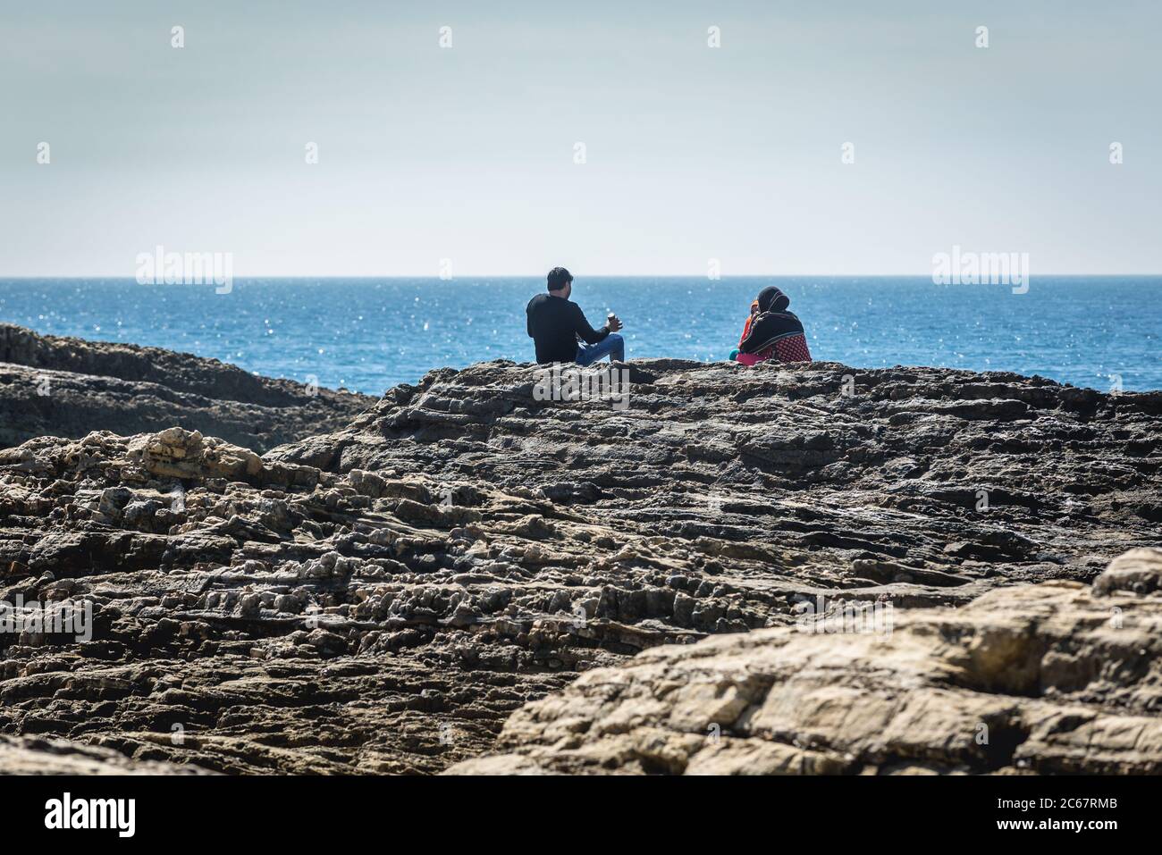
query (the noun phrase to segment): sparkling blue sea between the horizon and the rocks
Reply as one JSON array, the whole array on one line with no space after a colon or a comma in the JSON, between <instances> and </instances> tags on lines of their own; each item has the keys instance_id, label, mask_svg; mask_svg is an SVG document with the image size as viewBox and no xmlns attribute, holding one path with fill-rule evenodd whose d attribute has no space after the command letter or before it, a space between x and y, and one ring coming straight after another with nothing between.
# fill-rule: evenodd
<instances>
[{"instance_id":1,"label":"sparkling blue sea between the horizon and the rocks","mask_svg":"<svg viewBox=\"0 0 1162 855\"><path fill-rule=\"evenodd\" d=\"M1040 374L1109 390L1162 388L1162 276L1034 276L1002 285L928 278L579 278L595 326L625 322L626 355L725 359L751 300L791 297L816 359ZM213 285L0 279L0 319L58 336L131 342L270 376L381 394L438 366L530 361L524 307L541 278L250 279Z\"/></svg>"}]
</instances>

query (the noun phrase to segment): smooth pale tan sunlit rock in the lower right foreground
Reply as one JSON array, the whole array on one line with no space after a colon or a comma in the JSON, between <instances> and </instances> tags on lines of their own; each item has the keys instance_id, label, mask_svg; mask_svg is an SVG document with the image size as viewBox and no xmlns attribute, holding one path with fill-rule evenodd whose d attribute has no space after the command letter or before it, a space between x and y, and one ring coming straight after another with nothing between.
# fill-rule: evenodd
<instances>
[{"instance_id":1,"label":"smooth pale tan sunlit rock in the lower right foreground","mask_svg":"<svg viewBox=\"0 0 1162 855\"><path fill-rule=\"evenodd\" d=\"M1162 581L1162 551L1135 553ZM1003 588L890 632L658 647L519 710L511 753L451 771L1157 775L1162 596L1126 590L1125 561L1092 590Z\"/></svg>"}]
</instances>

